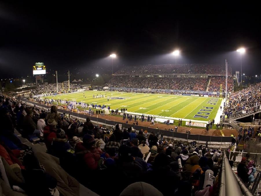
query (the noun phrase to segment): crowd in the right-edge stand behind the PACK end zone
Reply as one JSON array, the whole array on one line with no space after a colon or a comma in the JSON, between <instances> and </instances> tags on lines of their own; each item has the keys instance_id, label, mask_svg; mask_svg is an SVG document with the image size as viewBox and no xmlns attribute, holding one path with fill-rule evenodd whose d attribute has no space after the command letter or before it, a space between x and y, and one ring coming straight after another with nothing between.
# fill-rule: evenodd
<instances>
[{"instance_id":1,"label":"crowd in the right-edge stand behind the PACK end zone","mask_svg":"<svg viewBox=\"0 0 261 196\"><path fill-rule=\"evenodd\" d=\"M261 104L261 83L251 84L248 88L232 93L228 101L224 108L224 114L227 117L230 114L257 107Z\"/></svg>"}]
</instances>

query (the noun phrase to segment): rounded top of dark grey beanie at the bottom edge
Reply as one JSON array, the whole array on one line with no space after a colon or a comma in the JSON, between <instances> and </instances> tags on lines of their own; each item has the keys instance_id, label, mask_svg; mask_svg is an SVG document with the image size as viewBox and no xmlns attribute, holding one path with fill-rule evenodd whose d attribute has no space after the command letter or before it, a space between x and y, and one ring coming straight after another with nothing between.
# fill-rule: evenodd
<instances>
[{"instance_id":1,"label":"rounded top of dark grey beanie at the bottom edge","mask_svg":"<svg viewBox=\"0 0 261 196\"><path fill-rule=\"evenodd\" d=\"M120 196L163 196L163 194L146 182L135 182L127 186Z\"/></svg>"}]
</instances>

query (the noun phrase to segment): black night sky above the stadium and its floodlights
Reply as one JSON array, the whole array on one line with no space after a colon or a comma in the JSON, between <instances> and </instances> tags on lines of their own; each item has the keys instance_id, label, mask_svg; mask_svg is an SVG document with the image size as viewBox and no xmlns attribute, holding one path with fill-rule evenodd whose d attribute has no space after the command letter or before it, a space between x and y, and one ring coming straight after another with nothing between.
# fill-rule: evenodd
<instances>
[{"instance_id":1,"label":"black night sky above the stadium and its floodlights","mask_svg":"<svg viewBox=\"0 0 261 196\"><path fill-rule=\"evenodd\" d=\"M112 52L115 69L174 63L168 55L174 49L181 50L178 63L225 65L227 59L235 72L241 46L247 50L242 72L261 74L257 5L64 2L0 2L1 78L32 75L35 62L85 77L108 69Z\"/></svg>"}]
</instances>

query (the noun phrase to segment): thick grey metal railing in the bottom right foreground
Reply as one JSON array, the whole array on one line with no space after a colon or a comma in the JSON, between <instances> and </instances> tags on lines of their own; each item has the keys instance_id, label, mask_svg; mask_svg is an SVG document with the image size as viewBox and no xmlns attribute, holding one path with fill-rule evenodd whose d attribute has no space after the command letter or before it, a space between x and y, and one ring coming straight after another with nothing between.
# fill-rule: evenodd
<instances>
[{"instance_id":1,"label":"thick grey metal railing in the bottom right foreground","mask_svg":"<svg viewBox=\"0 0 261 196\"><path fill-rule=\"evenodd\" d=\"M219 196L247 195L253 196L241 179L232 170L228 158L224 152L221 172L221 186Z\"/></svg>"}]
</instances>

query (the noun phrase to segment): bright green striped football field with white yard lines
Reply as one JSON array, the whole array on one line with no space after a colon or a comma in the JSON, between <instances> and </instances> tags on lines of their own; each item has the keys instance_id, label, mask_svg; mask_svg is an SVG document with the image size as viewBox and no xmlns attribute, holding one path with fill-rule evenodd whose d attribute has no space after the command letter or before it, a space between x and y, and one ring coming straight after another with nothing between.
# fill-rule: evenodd
<instances>
[{"instance_id":1,"label":"bright green striped football field with white yard lines","mask_svg":"<svg viewBox=\"0 0 261 196\"><path fill-rule=\"evenodd\" d=\"M83 93L85 97L83 97ZM106 93L106 95L105 95ZM105 98L93 98L93 95L105 95ZM107 101L107 97L109 101ZM215 118L221 99L181 95L118 93L106 91L84 91L45 97L49 99L73 100L110 106L111 109L127 108L127 112L149 114L170 118L208 121ZM111 99L116 98L116 99ZM117 99L124 98L124 99Z\"/></svg>"}]
</instances>

